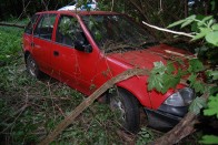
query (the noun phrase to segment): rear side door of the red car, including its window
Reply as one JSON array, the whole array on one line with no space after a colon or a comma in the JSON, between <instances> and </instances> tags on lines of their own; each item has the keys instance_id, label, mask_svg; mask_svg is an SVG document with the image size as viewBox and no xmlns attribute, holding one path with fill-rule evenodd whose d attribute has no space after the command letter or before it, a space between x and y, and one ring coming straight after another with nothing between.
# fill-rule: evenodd
<instances>
[{"instance_id":1,"label":"rear side door of the red car, including its window","mask_svg":"<svg viewBox=\"0 0 218 145\"><path fill-rule=\"evenodd\" d=\"M31 54L37 61L39 69L46 73L50 73L50 51L53 32L53 24L57 14L46 13L40 17L40 20L33 31L31 42Z\"/></svg>"}]
</instances>

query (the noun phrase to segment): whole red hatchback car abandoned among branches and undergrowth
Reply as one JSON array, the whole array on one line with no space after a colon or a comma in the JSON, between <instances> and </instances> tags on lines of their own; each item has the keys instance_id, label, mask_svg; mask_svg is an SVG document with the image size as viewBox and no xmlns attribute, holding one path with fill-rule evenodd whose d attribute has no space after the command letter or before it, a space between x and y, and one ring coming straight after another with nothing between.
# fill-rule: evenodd
<instances>
[{"instance_id":1,"label":"whole red hatchback car abandoned among branches and undergrowth","mask_svg":"<svg viewBox=\"0 0 218 145\"><path fill-rule=\"evenodd\" d=\"M36 13L24 30L23 51L32 76L43 72L86 95L128 69L152 69L153 62L187 54L158 44L127 15L102 11ZM181 84L165 94L149 92L147 79L133 76L103 95L119 112L123 127L133 133L139 130L140 106L151 127L168 130L184 117L194 100L194 91Z\"/></svg>"}]
</instances>

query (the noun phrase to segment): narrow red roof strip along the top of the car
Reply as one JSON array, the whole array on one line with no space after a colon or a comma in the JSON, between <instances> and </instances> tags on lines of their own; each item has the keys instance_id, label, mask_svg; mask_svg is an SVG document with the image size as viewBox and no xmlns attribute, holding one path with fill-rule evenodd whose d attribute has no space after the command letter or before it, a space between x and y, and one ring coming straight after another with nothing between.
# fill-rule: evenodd
<instances>
[{"instance_id":1,"label":"narrow red roof strip along the top of the car","mask_svg":"<svg viewBox=\"0 0 218 145\"><path fill-rule=\"evenodd\" d=\"M110 11L72 11L72 10L62 10L62 11L42 11L37 12L37 14L44 14L44 13L57 13L57 14L72 14L72 15L103 15L103 14L120 14L117 12L110 12Z\"/></svg>"}]
</instances>

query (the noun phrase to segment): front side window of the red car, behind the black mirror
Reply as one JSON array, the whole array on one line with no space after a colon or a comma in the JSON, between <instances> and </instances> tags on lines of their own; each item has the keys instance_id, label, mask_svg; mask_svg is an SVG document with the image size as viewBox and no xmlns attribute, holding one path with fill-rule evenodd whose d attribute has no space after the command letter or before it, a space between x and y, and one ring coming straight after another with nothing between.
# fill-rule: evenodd
<instances>
[{"instance_id":1,"label":"front side window of the red car, behind the black mirror","mask_svg":"<svg viewBox=\"0 0 218 145\"><path fill-rule=\"evenodd\" d=\"M75 41L88 44L87 38L76 18L61 15L56 32L56 42L73 46Z\"/></svg>"}]
</instances>

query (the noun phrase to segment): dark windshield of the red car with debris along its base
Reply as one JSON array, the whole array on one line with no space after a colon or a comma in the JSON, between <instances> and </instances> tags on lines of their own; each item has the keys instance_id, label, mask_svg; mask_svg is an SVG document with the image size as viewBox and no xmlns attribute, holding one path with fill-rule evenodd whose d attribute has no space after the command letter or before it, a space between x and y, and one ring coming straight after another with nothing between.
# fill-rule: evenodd
<instances>
[{"instance_id":1,"label":"dark windshield of the red car with debris along its base","mask_svg":"<svg viewBox=\"0 0 218 145\"><path fill-rule=\"evenodd\" d=\"M106 52L138 49L155 39L122 14L83 15L82 20L99 48Z\"/></svg>"}]
</instances>

